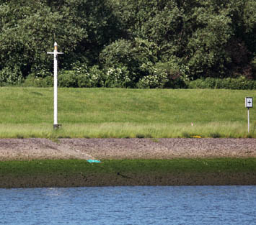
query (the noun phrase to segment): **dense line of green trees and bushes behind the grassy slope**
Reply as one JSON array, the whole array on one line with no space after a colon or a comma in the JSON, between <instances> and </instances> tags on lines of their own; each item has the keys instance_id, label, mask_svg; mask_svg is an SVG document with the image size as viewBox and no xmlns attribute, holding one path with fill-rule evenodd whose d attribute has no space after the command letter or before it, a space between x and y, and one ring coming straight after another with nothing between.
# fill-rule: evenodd
<instances>
[{"instance_id":1,"label":"dense line of green trees and bushes behind the grassy slope","mask_svg":"<svg viewBox=\"0 0 256 225\"><path fill-rule=\"evenodd\" d=\"M179 87L256 78L255 0L0 0L0 83Z\"/></svg>"}]
</instances>

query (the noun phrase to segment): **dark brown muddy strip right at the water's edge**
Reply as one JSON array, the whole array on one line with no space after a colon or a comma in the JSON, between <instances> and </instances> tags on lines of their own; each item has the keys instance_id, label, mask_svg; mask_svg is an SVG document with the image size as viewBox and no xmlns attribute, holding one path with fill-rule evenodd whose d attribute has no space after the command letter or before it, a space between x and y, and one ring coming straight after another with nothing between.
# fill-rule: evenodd
<instances>
[{"instance_id":1,"label":"dark brown muddy strip right at the water's edge","mask_svg":"<svg viewBox=\"0 0 256 225\"><path fill-rule=\"evenodd\" d=\"M2 176L0 188L94 187L134 185L256 185L256 173L165 173Z\"/></svg>"}]
</instances>

